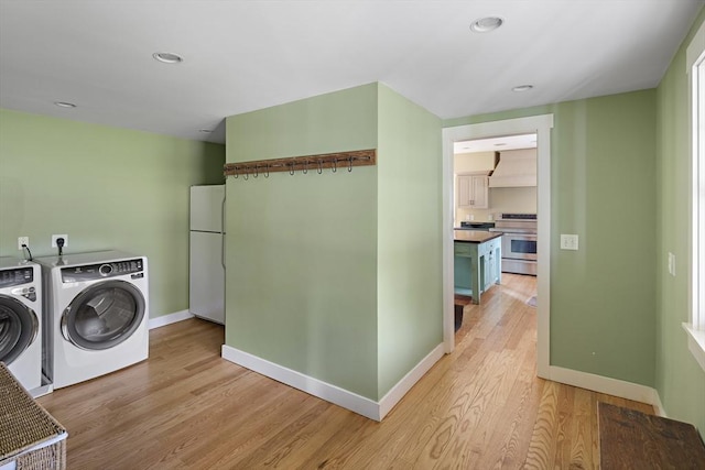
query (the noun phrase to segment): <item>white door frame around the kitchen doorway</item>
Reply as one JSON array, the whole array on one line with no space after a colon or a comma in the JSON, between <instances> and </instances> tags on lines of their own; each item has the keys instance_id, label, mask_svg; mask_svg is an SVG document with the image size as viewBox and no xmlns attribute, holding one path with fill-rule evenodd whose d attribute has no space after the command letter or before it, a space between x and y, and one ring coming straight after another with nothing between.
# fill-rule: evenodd
<instances>
[{"instance_id":1,"label":"white door frame around the kitchen doorway","mask_svg":"<svg viewBox=\"0 0 705 470\"><path fill-rule=\"evenodd\" d=\"M445 352L455 349L453 307L453 143L457 141L536 133L536 175L539 214L539 286L536 307L536 370L550 375L551 305L551 129L553 114L482 122L443 129L443 342Z\"/></svg>"}]
</instances>

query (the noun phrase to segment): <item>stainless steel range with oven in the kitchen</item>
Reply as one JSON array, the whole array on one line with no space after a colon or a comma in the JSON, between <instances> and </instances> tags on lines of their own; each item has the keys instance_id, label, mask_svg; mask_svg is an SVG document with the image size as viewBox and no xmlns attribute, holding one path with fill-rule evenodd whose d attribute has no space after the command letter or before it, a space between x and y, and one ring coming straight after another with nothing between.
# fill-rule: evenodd
<instances>
[{"instance_id":1,"label":"stainless steel range with oven in the kitchen","mask_svg":"<svg viewBox=\"0 0 705 470\"><path fill-rule=\"evenodd\" d=\"M502 272L536 275L535 214L496 214L495 232L502 232Z\"/></svg>"}]
</instances>

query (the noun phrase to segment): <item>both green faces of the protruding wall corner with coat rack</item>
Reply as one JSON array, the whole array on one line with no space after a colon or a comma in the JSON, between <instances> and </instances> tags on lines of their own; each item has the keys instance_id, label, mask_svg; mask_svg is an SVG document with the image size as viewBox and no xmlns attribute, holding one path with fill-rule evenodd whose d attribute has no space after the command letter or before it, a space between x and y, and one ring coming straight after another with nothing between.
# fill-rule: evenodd
<instances>
[{"instance_id":1,"label":"both green faces of the protruding wall corner with coat rack","mask_svg":"<svg viewBox=\"0 0 705 470\"><path fill-rule=\"evenodd\" d=\"M226 345L377 401L442 341L440 130L378 84L228 118L228 162L379 163L228 178Z\"/></svg>"}]
</instances>

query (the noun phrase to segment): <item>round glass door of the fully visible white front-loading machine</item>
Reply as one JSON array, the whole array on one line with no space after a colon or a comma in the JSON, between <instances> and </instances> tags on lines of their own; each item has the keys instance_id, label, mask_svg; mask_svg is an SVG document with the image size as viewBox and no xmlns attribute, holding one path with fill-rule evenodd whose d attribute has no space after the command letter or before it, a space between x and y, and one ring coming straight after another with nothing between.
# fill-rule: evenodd
<instances>
[{"instance_id":1,"label":"round glass door of the fully visible white front-loading machine","mask_svg":"<svg viewBox=\"0 0 705 470\"><path fill-rule=\"evenodd\" d=\"M140 289L124 281L106 281L72 300L62 316L62 334L82 349L109 349L130 338L143 318Z\"/></svg>"}]
</instances>

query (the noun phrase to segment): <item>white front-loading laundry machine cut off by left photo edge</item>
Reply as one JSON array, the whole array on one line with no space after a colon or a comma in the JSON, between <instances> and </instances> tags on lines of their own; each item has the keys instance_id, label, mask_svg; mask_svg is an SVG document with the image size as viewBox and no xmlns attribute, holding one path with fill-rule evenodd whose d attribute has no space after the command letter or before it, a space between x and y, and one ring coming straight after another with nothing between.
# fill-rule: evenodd
<instances>
[{"instance_id":1,"label":"white front-loading laundry machine cut off by left photo edge","mask_svg":"<svg viewBox=\"0 0 705 470\"><path fill-rule=\"evenodd\" d=\"M42 271L0 258L0 361L32 395L42 386Z\"/></svg>"}]
</instances>

